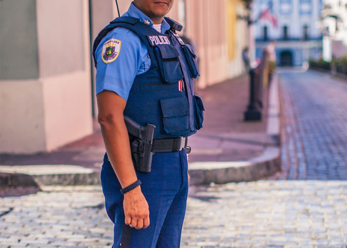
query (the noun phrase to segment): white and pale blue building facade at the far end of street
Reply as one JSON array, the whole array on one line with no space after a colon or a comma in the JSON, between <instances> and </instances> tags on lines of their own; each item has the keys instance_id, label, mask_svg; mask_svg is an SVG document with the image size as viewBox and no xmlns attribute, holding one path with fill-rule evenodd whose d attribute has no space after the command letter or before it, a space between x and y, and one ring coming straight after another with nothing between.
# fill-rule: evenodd
<instances>
[{"instance_id":1,"label":"white and pale blue building facade at the far end of street","mask_svg":"<svg viewBox=\"0 0 347 248\"><path fill-rule=\"evenodd\" d=\"M270 4L269 0L255 0L253 20ZM278 65L300 66L310 58L317 59L322 53L321 10L322 0L273 0L272 15L277 27L268 19L255 22L256 57L260 58L269 41L275 40Z\"/></svg>"}]
</instances>

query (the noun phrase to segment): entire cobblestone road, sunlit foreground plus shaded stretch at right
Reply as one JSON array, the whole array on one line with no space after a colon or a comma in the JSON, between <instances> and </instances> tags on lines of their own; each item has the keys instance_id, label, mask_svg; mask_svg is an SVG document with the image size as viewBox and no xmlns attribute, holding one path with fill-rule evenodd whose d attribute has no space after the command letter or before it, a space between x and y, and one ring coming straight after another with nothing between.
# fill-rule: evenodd
<instances>
[{"instance_id":1,"label":"entire cobblestone road, sunlit foreground plus shaded stretch at right","mask_svg":"<svg viewBox=\"0 0 347 248\"><path fill-rule=\"evenodd\" d=\"M281 78L285 180L191 188L182 248L347 248L347 83ZM0 199L1 248L110 247L99 186L43 190Z\"/></svg>"}]
</instances>

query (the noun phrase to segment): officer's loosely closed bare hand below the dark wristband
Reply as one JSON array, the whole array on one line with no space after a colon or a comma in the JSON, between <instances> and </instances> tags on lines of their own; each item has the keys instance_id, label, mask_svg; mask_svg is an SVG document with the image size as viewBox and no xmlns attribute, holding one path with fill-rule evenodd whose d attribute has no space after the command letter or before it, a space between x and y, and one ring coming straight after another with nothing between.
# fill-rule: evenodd
<instances>
[{"instance_id":1,"label":"officer's loosely closed bare hand below the dark wristband","mask_svg":"<svg viewBox=\"0 0 347 248\"><path fill-rule=\"evenodd\" d=\"M149 209L140 186L124 194L125 224L136 229L149 226Z\"/></svg>"}]
</instances>

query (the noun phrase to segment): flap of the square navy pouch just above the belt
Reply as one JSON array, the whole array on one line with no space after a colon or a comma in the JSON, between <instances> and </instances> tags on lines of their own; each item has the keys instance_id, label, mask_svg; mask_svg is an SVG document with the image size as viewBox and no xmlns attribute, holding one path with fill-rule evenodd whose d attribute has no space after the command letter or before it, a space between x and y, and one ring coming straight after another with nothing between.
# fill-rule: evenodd
<instances>
[{"instance_id":1,"label":"flap of the square navy pouch just above the belt","mask_svg":"<svg viewBox=\"0 0 347 248\"><path fill-rule=\"evenodd\" d=\"M163 116L186 116L189 115L188 100L186 97L175 97L160 100Z\"/></svg>"}]
</instances>

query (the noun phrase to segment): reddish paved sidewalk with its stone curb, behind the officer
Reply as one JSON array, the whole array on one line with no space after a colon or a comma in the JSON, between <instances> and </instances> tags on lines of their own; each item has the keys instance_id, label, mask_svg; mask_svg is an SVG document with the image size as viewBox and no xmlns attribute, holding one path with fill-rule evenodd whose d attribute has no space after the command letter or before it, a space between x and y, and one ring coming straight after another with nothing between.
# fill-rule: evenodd
<instances>
[{"instance_id":1,"label":"reddish paved sidewalk with its stone curb, behind the officer","mask_svg":"<svg viewBox=\"0 0 347 248\"><path fill-rule=\"evenodd\" d=\"M264 113L262 122L243 122L249 100L247 75L197 92L206 111L204 127L188 139L192 184L253 181L279 170L277 80L272 86L269 114ZM95 126L94 134L50 153L1 154L1 184L98 184L105 148L99 125Z\"/></svg>"}]
</instances>

